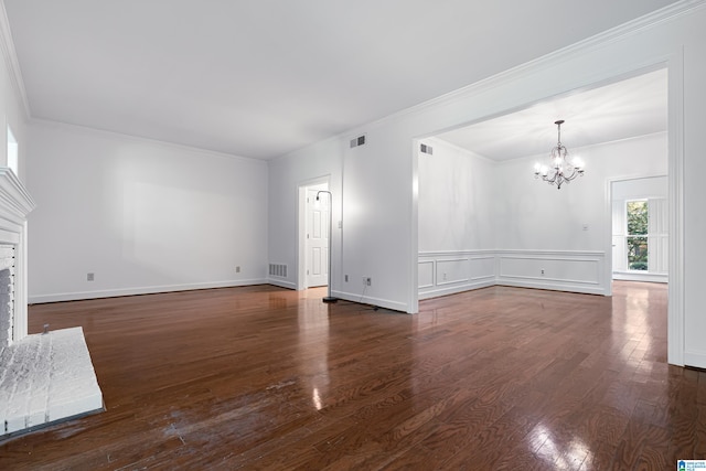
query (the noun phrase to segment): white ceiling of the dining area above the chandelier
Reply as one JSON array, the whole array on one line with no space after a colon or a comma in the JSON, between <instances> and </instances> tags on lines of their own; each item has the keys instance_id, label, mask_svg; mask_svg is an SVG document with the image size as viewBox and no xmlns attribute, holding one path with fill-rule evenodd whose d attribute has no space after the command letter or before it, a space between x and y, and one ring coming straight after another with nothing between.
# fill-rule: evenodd
<instances>
[{"instance_id":1,"label":"white ceiling of the dining area above the chandelier","mask_svg":"<svg viewBox=\"0 0 706 471\"><path fill-rule=\"evenodd\" d=\"M602 87L538 103L530 108L437 137L495 161L549 154L557 142L571 148L667 130L665 68Z\"/></svg>"}]
</instances>

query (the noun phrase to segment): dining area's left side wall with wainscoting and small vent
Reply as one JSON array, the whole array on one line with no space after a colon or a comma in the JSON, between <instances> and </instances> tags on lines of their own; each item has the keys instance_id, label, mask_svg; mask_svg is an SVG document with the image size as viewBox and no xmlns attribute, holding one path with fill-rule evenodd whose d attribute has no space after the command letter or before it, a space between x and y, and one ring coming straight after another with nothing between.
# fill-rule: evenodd
<instances>
[{"instance_id":1,"label":"dining area's left side wall with wainscoting and small vent","mask_svg":"<svg viewBox=\"0 0 706 471\"><path fill-rule=\"evenodd\" d=\"M495 282L495 163L440 139L418 153L420 299Z\"/></svg>"}]
</instances>

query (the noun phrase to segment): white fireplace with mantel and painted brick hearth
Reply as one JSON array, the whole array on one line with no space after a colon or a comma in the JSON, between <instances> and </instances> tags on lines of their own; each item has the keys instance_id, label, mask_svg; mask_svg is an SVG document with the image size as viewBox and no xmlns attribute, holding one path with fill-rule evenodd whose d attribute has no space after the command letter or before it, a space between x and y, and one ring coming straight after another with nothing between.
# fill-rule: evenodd
<instances>
[{"instance_id":1,"label":"white fireplace with mantel and painted brick hearth","mask_svg":"<svg viewBox=\"0 0 706 471\"><path fill-rule=\"evenodd\" d=\"M35 203L0 168L0 440L103 410L83 329L28 335L28 214Z\"/></svg>"}]
</instances>

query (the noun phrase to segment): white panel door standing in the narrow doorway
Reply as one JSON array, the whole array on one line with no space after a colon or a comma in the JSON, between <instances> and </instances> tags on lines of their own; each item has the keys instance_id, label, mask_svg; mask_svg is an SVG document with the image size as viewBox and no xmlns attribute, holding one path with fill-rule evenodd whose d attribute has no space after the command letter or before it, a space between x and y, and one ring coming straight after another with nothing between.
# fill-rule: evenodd
<instances>
[{"instance_id":1,"label":"white panel door standing in the narrow doorway","mask_svg":"<svg viewBox=\"0 0 706 471\"><path fill-rule=\"evenodd\" d=\"M329 282L329 194L307 189L307 288Z\"/></svg>"}]
</instances>

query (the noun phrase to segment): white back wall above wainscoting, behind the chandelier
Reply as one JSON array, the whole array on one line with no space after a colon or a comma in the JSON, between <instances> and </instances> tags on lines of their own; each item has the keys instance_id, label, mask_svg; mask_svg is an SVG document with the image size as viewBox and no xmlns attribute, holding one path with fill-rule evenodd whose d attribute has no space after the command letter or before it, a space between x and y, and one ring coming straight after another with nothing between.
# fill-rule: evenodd
<instances>
[{"instance_id":1,"label":"white back wall above wainscoting, behind the chandelier","mask_svg":"<svg viewBox=\"0 0 706 471\"><path fill-rule=\"evenodd\" d=\"M567 136L568 139L568 136ZM585 176L560 190L532 176L532 156L496 167L499 193L498 248L605 250L610 234L610 180L667 173L667 137L655 133L635 139L571 148L586 162Z\"/></svg>"}]
</instances>

